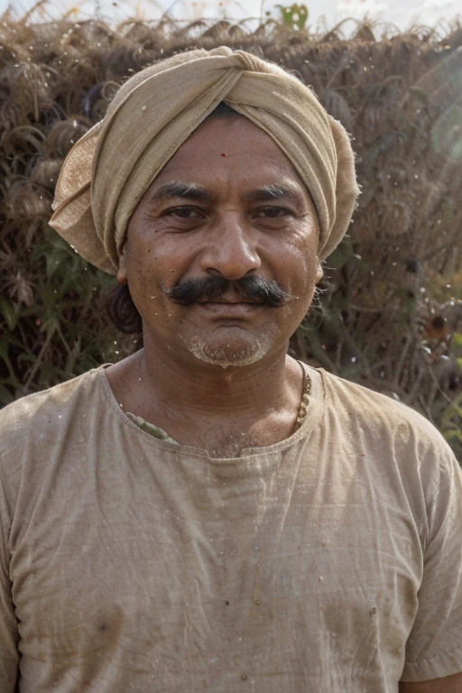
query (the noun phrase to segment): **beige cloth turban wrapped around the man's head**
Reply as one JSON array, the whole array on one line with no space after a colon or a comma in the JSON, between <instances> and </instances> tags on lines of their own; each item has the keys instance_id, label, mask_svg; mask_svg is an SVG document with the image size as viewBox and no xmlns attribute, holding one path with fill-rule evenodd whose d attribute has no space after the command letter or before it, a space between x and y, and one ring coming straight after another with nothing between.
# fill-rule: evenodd
<instances>
[{"instance_id":1,"label":"beige cloth turban wrapped around the man's head","mask_svg":"<svg viewBox=\"0 0 462 693\"><path fill-rule=\"evenodd\" d=\"M319 258L326 258L347 231L358 194L347 132L298 79L225 47L175 55L125 82L104 120L69 152L51 226L88 262L115 274L144 192L221 101L262 128L290 159L310 190Z\"/></svg>"}]
</instances>

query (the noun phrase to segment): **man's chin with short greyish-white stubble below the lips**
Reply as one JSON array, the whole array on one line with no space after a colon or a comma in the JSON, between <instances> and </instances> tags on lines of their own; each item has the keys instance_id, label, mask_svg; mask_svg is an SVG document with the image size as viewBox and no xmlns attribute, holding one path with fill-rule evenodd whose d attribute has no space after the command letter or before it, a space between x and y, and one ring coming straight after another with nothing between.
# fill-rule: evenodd
<instances>
[{"instance_id":1,"label":"man's chin with short greyish-white stubble below the lips","mask_svg":"<svg viewBox=\"0 0 462 693\"><path fill-rule=\"evenodd\" d=\"M254 339L251 344L213 344L203 337L193 337L187 344L190 353L206 364L220 368L242 368L255 364L270 350L269 339Z\"/></svg>"}]
</instances>

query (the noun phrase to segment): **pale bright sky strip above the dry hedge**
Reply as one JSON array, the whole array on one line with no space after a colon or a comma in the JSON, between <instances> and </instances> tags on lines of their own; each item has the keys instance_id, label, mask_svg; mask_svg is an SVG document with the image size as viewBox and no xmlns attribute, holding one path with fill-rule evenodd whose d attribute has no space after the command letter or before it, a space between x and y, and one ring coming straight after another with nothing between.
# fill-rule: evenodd
<instances>
[{"instance_id":1,"label":"pale bright sky strip above the dry hedge","mask_svg":"<svg viewBox=\"0 0 462 693\"><path fill-rule=\"evenodd\" d=\"M452 20L462 22L462 0L300 0L309 9L308 24L330 29L338 22L351 17L360 20L367 15L383 23L392 23L403 31L413 23L430 26L448 26ZM113 21L123 21L129 16L155 20L169 12L179 20L194 20L205 17L244 20L264 17L266 12L277 17L275 8L278 0L0 0L0 14L7 8L16 16L22 16L34 5L32 17L50 19L71 13L77 19L89 19L98 13ZM288 6L292 0L279 0ZM351 23L353 25L353 23ZM348 24L346 25L347 30Z\"/></svg>"}]
</instances>

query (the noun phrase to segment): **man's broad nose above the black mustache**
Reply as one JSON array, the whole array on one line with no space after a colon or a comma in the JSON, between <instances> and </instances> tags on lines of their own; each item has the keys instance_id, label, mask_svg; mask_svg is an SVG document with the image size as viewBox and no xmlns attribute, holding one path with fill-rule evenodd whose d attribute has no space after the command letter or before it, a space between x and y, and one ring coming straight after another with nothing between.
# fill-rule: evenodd
<instances>
[{"instance_id":1,"label":"man's broad nose above the black mustache","mask_svg":"<svg viewBox=\"0 0 462 693\"><path fill-rule=\"evenodd\" d=\"M200 258L204 273L220 274L236 281L260 268L254 233L237 214L226 215L210 232Z\"/></svg>"}]
</instances>

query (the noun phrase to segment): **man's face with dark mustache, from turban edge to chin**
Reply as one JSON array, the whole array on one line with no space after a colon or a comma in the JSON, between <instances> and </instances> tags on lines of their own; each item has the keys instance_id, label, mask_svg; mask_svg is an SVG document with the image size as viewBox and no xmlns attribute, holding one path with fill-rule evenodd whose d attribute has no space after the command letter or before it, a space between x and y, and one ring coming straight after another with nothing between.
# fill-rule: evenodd
<instances>
[{"instance_id":1,"label":"man's face with dark mustache, from turban edge to chin","mask_svg":"<svg viewBox=\"0 0 462 693\"><path fill-rule=\"evenodd\" d=\"M322 274L317 247L309 194L272 138L244 117L210 120L135 209L117 278L142 316L145 347L192 365L243 366L285 353ZM192 299L169 294L210 278L226 281L218 295L203 283ZM277 282L282 305L248 295L244 278Z\"/></svg>"}]
</instances>

